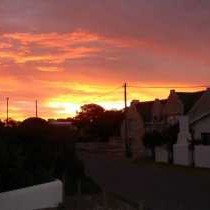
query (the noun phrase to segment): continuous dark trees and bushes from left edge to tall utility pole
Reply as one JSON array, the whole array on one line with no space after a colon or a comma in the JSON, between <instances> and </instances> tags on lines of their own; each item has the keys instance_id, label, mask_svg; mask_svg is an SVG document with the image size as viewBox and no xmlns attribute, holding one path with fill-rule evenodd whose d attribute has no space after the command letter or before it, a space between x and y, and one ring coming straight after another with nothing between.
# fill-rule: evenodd
<instances>
[{"instance_id":1,"label":"continuous dark trees and bushes from left edge to tall utility pole","mask_svg":"<svg viewBox=\"0 0 210 210\"><path fill-rule=\"evenodd\" d=\"M65 180L67 193L75 193L79 181L84 192L88 188L99 190L85 176L75 143L107 141L118 135L122 117L121 111L87 104L71 119L72 126L56 126L41 118L29 118L18 124L10 120L9 126L0 123L0 192L57 178Z\"/></svg>"}]
</instances>

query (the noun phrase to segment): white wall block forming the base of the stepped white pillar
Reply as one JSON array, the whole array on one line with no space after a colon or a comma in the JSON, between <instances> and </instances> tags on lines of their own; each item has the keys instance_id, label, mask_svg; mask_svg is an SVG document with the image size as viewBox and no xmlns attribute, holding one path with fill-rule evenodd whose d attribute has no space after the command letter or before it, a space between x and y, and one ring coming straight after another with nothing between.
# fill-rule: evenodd
<instances>
[{"instance_id":1,"label":"white wall block forming the base of the stepped white pillar","mask_svg":"<svg viewBox=\"0 0 210 210\"><path fill-rule=\"evenodd\" d=\"M175 144L174 149L174 164L177 165L190 165L190 154L187 144Z\"/></svg>"}]
</instances>

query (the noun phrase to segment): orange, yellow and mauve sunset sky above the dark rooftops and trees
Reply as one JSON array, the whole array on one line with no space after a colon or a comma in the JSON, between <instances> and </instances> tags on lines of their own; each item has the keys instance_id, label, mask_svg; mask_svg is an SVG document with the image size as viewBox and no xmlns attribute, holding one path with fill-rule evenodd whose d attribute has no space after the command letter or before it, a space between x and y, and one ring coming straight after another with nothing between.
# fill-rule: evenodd
<instances>
[{"instance_id":1,"label":"orange, yellow and mauve sunset sky above the dark rooftops and trees","mask_svg":"<svg viewBox=\"0 0 210 210\"><path fill-rule=\"evenodd\" d=\"M122 84L210 84L209 0L0 0L0 118L123 106ZM179 91L195 89L182 89ZM128 88L128 98L169 89Z\"/></svg>"}]
</instances>

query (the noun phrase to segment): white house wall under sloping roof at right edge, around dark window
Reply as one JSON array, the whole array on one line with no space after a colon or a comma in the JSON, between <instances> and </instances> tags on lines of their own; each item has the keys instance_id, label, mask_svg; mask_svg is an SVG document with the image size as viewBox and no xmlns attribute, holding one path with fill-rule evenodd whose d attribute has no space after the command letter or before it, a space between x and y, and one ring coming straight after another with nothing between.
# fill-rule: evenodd
<instances>
[{"instance_id":1,"label":"white house wall under sloping roof at right edge, around dark window","mask_svg":"<svg viewBox=\"0 0 210 210\"><path fill-rule=\"evenodd\" d=\"M201 133L210 133L210 115L193 124L195 139L201 139Z\"/></svg>"}]
</instances>

